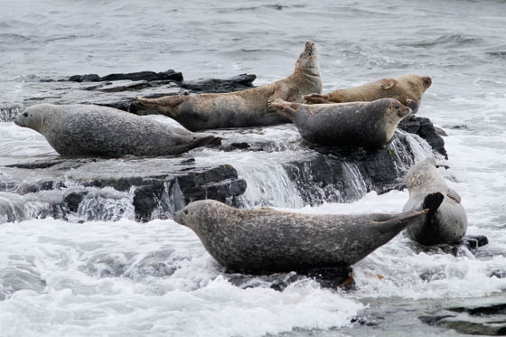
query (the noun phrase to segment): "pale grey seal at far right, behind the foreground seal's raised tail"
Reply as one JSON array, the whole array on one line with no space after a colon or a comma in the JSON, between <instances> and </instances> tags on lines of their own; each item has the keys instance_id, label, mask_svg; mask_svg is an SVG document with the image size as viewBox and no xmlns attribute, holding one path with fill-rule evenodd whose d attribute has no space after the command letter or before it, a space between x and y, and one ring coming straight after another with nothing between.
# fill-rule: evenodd
<instances>
[{"instance_id":1,"label":"pale grey seal at far right, behind the foreground seal's raised tail","mask_svg":"<svg viewBox=\"0 0 506 337\"><path fill-rule=\"evenodd\" d=\"M467 216L457 192L449 188L437 172L436 159L429 157L408 171L406 183L409 200L404 211L417 211L431 202L439 202L438 208L418 218L408 229L410 239L423 245L455 243L464 237ZM440 201L438 201L440 200Z\"/></svg>"}]
</instances>

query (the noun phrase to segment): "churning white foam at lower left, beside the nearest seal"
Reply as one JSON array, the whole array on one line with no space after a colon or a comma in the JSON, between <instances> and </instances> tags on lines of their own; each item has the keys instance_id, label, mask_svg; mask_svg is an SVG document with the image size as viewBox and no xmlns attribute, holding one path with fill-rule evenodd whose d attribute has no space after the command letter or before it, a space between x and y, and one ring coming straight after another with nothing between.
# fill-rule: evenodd
<instances>
[{"instance_id":1,"label":"churning white foam at lower left, beside the nearest seal","mask_svg":"<svg viewBox=\"0 0 506 337\"><path fill-rule=\"evenodd\" d=\"M262 336L342 326L363 308L310 280L283 292L232 286L171 220L31 220L4 224L0 238L5 335Z\"/></svg>"}]
</instances>

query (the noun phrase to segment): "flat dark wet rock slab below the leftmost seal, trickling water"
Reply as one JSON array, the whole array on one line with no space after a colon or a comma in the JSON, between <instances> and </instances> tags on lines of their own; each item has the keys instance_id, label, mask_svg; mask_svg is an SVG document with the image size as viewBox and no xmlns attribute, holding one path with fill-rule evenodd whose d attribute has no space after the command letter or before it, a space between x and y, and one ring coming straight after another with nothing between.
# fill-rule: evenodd
<instances>
[{"instance_id":1,"label":"flat dark wet rock slab below the leftmost seal, trickling water","mask_svg":"<svg viewBox=\"0 0 506 337\"><path fill-rule=\"evenodd\" d=\"M230 165L200 167L178 158L55 159L4 166L1 172L0 192L10 195L7 200L19 199L0 202L4 221L62 219L78 211L79 220L117 220L130 209L136 220L167 219L190 201L232 204L246 191L246 182ZM46 201L40 195L46 191L57 197ZM44 206L27 214L37 209L28 207L30 202Z\"/></svg>"}]
</instances>

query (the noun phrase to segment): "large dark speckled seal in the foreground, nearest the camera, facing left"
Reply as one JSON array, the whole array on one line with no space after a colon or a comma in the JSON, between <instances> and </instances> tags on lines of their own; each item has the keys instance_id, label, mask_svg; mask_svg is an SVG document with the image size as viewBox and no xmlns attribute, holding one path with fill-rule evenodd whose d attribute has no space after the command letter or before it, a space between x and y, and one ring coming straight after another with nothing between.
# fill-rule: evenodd
<instances>
[{"instance_id":1,"label":"large dark speckled seal in the foreground, nearest the camera, facing left","mask_svg":"<svg viewBox=\"0 0 506 337\"><path fill-rule=\"evenodd\" d=\"M259 275L351 266L426 211L314 215L236 210L205 200L177 211L173 220L192 229L222 266Z\"/></svg>"}]
</instances>

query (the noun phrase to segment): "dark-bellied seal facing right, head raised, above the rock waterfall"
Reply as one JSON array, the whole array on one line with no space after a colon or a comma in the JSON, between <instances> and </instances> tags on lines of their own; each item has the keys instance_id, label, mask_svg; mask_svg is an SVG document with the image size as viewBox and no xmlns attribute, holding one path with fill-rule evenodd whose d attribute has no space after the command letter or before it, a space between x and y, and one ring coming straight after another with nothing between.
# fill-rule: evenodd
<instances>
[{"instance_id":1,"label":"dark-bellied seal facing right, head raised, above the rock waterfall","mask_svg":"<svg viewBox=\"0 0 506 337\"><path fill-rule=\"evenodd\" d=\"M300 104L277 100L301 136L317 145L380 148L389 144L398 122L411 113L396 99L340 104Z\"/></svg>"}]
</instances>

